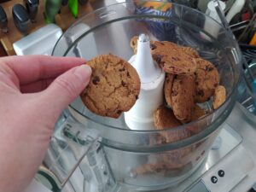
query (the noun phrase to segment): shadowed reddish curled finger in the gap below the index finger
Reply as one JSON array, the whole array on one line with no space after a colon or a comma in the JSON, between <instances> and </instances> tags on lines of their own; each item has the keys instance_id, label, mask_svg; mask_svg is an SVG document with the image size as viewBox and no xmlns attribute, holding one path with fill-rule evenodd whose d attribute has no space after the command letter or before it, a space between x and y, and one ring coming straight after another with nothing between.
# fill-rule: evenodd
<instances>
[{"instance_id":1,"label":"shadowed reddish curled finger in the gap below the index finger","mask_svg":"<svg viewBox=\"0 0 256 192\"><path fill-rule=\"evenodd\" d=\"M41 90L45 90L49 84L51 84L55 78L42 79L31 84L24 84L20 86L21 93L35 93Z\"/></svg>"}]
</instances>

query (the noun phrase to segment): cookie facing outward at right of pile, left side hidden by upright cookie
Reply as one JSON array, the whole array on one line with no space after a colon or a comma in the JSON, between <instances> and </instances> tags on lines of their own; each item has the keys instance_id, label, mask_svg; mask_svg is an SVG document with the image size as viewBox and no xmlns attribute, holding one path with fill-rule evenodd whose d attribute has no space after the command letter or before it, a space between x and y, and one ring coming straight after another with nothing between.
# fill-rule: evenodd
<instances>
[{"instance_id":1,"label":"cookie facing outward at right of pile, left side hidden by upright cookie","mask_svg":"<svg viewBox=\"0 0 256 192\"><path fill-rule=\"evenodd\" d=\"M201 58L196 58L194 61L197 64L195 71L195 102L207 102L218 86L218 70L210 61Z\"/></svg>"}]
</instances>

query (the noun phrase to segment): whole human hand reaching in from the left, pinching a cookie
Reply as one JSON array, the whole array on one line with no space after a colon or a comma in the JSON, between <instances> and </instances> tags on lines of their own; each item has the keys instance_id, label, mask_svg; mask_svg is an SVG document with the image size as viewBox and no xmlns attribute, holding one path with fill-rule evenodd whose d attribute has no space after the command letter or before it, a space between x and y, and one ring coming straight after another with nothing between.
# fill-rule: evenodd
<instances>
[{"instance_id":1,"label":"whole human hand reaching in from the left, pinching a cookie","mask_svg":"<svg viewBox=\"0 0 256 192\"><path fill-rule=\"evenodd\" d=\"M31 182L55 121L89 83L90 67L79 66L84 62L43 55L0 58L1 191L20 192Z\"/></svg>"}]
</instances>

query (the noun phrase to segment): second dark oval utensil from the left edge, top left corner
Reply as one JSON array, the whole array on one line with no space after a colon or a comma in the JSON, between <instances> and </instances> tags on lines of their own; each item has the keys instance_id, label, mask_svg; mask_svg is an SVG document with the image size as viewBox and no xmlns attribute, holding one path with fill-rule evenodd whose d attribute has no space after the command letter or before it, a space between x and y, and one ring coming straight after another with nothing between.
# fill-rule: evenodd
<instances>
[{"instance_id":1,"label":"second dark oval utensil from the left edge, top left corner","mask_svg":"<svg viewBox=\"0 0 256 192\"><path fill-rule=\"evenodd\" d=\"M27 35L31 26L30 16L26 12L26 8L24 8L20 3L15 4L12 13L17 29L24 35Z\"/></svg>"}]
</instances>

